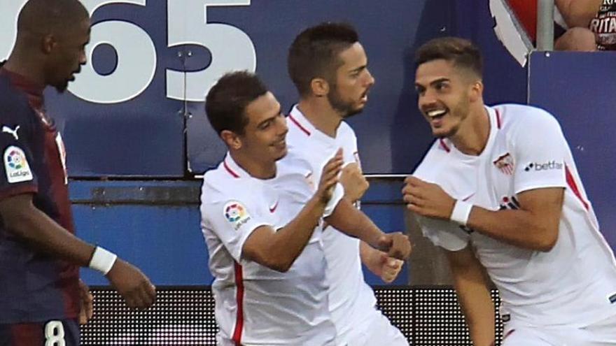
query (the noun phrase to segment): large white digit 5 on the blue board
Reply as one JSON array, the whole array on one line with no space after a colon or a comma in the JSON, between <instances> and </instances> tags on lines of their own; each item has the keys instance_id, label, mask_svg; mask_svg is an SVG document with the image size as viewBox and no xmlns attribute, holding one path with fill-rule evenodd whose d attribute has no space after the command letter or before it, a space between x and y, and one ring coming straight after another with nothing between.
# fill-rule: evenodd
<instances>
[{"instance_id":1,"label":"large white digit 5 on the blue board","mask_svg":"<svg viewBox=\"0 0 616 346\"><path fill-rule=\"evenodd\" d=\"M167 70L167 97L203 101L223 73L255 71L257 57L251 39L237 27L207 22L208 6L249 6L250 0L168 0L169 47L202 45L211 53L211 64L197 72ZM186 94L184 83L186 78Z\"/></svg>"}]
</instances>

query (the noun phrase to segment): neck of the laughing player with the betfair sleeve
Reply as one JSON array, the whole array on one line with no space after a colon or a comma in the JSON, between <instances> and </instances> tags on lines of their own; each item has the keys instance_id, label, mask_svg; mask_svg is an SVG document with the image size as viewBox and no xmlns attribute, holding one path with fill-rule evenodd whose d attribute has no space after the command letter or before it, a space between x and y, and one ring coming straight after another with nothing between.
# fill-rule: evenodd
<instances>
[{"instance_id":1,"label":"neck of the laughing player with the betfair sleeve","mask_svg":"<svg viewBox=\"0 0 616 346\"><path fill-rule=\"evenodd\" d=\"M481 154L490 137L490 117L483 103L470 108L456 133L449 137L456 149L467 155Z\"/></svg>"}]
</instances>

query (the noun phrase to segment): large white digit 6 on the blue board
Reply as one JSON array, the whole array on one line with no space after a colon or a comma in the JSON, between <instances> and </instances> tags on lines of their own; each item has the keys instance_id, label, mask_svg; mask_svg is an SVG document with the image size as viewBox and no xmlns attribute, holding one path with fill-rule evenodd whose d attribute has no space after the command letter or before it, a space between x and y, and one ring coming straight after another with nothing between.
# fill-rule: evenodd
<instances>
[{"instance_id":1,"label":"large white digit 6 on the blue board","mask_svg":"<svg viewBox=\"0 0 616 346\"><path fill-rule=\"evenodd\" d=\"M82 0L94 13L109 3L131 3L146 6L146 0ZM99 75L92 66L92 52L97 45L112 45L118 55L116 70L109 75ZM88 64L69 85L69 91L94 103L127 101L143 92L154 78L156 50L144 29L122 20L109 20L92 26L90 44L86 47Z\"/></svg>"}]
</instances>

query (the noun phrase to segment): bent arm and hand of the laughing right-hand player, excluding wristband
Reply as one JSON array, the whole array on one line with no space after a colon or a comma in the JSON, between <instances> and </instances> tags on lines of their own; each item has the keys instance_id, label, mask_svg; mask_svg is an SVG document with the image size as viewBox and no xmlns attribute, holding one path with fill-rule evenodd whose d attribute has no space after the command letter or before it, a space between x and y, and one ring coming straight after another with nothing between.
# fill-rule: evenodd
<instances>
[{"instance_id":1,"label":"bent arm and hand of the laughing right-hand player, excluding wristband","mask_svg":"<svg viewBox=\"0 0 616 346\"><path fill-rule=\"evenodd\" d=\"M443 189L409 176L402 189L407 208L425 217L449 219L456 200ZM556 244L564 189L531 189L517 195L519 210L473 206L466 226L510 245L547 252Z\"/></svg>"}]
</instances>

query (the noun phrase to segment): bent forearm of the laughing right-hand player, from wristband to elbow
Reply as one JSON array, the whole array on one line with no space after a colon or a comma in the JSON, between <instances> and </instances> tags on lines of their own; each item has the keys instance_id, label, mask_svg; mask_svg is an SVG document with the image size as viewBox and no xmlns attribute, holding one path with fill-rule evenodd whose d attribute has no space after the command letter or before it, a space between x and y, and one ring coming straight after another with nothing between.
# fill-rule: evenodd
<instances>
[{"instance_id":1,"label":"bent forearm of the laughing right-hand player, from wristband to elbow","mask_svg":"<svg viewBox=\"0 0 616 346\"><path fill-rule=\"evenodd\" d=\"M492 211L473 206L466 226L503 243L549 251L558 237L557 222L526 210Z\"/></svg>"}]
</instances>

